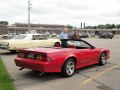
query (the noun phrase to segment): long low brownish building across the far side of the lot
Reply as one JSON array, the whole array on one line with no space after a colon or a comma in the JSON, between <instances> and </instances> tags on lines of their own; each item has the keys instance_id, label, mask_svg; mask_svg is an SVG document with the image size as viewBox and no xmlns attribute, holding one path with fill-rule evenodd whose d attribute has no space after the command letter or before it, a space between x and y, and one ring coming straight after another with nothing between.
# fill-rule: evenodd
<instances>
[{"instance_id":1,"label":"long low brownish building across the far side of the lot","mask_svg":"<svg viewBox=\"0 0 120 90\"><path fill-rule=\"evenodd\" d=\"M57 24L31 24L31 30L37 30L38 33L44 32L55 32L60 34L60 32L65 28L65 25L57 25ZM114 34L120 34L120 29L81 29L77 28L79 33L95 33L98 34L100 32L112 32ZM8 26L8 32L16 32L16 33L25 33L28 31L28 24L24 23L15 23L11 26ZM69 32L74 31L74 29L69 29Z\"/></svg>"}]
</instances>

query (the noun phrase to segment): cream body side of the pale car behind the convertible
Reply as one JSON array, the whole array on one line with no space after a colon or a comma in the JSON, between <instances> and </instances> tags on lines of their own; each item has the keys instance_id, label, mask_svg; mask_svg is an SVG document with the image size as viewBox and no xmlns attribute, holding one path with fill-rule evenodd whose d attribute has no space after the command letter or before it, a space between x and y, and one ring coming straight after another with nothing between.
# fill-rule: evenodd
<instances>
[{"instance_id":1,"label":"cream body side of the pale car behind the convertible","mask_svg":"<svg viewBox=\"0 0 120 90\"><path fill-rule=\"evenodd\" d=\"M7 50L18 50L23 48L34 48L38 46L53 46L58 39L46 39L46 40L1 40L0 44L9 43Z\"/></svg>"}]
</instances>

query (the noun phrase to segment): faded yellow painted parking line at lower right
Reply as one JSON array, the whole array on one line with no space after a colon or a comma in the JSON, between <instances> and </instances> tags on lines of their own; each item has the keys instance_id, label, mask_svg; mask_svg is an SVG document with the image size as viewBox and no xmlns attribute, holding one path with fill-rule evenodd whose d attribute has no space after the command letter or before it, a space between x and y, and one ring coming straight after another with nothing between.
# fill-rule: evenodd
<instances>
[{"instance_id":1,"label":"faded yellow painted parking line at lower right","mask_svg":"<svg viewBox=\"0 0 120 90\"><path fill-rule=\"evenodd\" d=\"M85 84L93 81L95 78L97 78L97 77L105 74L106 72L108 72L108 71L110 71L110 70L113 70L114 68L118 67L119 65L120 65L120 63L118 63L118 64L116 64L116 65L114 65L114 66L111 66L111 67L107 68L106 70L101 71L100 73L98 73L98 74L96 74L96 75L94 75L94 76L92 76L92 77L84 80L84 81L80 84L80 86L78 86L78 87L73 87L71 90L77 90L77 89L79 89L82 85L85 85Z\"/></svg>"}]
</instances>

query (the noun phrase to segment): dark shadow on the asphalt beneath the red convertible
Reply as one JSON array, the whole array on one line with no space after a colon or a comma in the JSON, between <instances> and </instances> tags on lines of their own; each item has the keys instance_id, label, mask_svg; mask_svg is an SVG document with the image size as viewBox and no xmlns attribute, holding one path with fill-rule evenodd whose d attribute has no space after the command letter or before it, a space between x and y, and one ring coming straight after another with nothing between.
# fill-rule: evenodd
<instances>
[{"instance_id":1,"label":"dark shadow on the asphalt beneath the red convertible","mask_svg":"<svg viewBox=\"0 0 120 90\"><path fill-rule=\"evenodd\" d=\"M19 78L14 78L12 79L14 82L16 81L23 81L22 83L16 84L16 86L22 86L22 85L35 85L38 83L44 83L44 82L50 82L52 80L67 80L67 79L73 79L75 78L76 75L82 75L86 77L85 73L90 73L90 72L97 72L100 70L104 70L107 67L110 67L112 65L111 63L107 63L105 66L99 66L98 64L90 65L81 69L77 69L75 74L70 77L66 78L63 77L61 73L40 73L32 70L25 69L21 71L22 73L17 73L19 74ZM88 76L87 76L88 77ZM25 81L25 82L24 82Z\"/></svg>"}]
</instances>

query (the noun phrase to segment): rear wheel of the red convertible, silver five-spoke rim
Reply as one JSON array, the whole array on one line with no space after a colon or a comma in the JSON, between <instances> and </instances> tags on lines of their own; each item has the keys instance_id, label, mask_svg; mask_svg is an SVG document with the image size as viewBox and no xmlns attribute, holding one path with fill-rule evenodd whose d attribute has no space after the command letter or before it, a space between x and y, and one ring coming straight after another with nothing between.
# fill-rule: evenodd
<instances>
[{"instance_id":1,"label":"rear wheel of the red convertible, silver five-spoke rim","mask_svg":"<svg viewBox=\"0 0 120 90\"><path fill-rule=\"evenodd\" d=\"M74 75L74 72L75 72L75 61L74 59L70 58L64 63L62 67L62 74L65 77L71 77Z\"/></svg>"}]
</instances>

